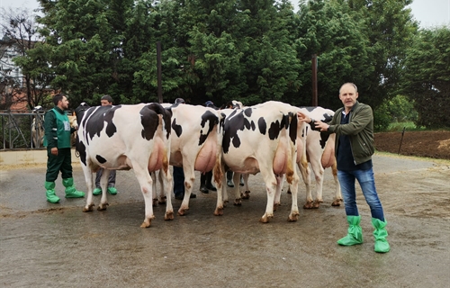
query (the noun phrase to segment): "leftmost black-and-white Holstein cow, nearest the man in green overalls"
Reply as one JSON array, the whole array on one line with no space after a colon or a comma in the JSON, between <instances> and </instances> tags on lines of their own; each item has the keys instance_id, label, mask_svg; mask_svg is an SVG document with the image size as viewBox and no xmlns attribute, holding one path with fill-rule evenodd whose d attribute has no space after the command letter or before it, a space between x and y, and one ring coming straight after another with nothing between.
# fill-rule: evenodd
<instances>
[{"instance_id":1,"label":"leftmost black-and-white Holstein cow, nearest the man in green overalls","mask_svg":"<svg viewBox=\"0 0 450 288\"><path fill-rule=\"evenodd\" d=\"M155 218L152 207L152 179L149 172L161 170L164 186L172 190L170 156L170 112L158 103L95 106L82 103L76 108L78 136L76 150L85 173L87 202L83 211L93 211L93 172L102 167L100 181L102 199L98 210L105 210L109 169L134 169L144 195L145 218L140 227L150 226ZM165 220L173 220L170 197L166 203Z\"/></svg>"}]
</instances>

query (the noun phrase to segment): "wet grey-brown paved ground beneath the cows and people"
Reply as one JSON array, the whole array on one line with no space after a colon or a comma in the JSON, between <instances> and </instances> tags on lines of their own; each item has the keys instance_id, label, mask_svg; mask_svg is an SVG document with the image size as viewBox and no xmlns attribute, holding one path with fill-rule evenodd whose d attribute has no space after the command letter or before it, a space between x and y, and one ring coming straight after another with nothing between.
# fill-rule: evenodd
<instances>
[{"instance_id":1,"label":"wet grey-brown paved ground beneath the cows and people","mask_svg":"<svg viewBox=\"0 0 450 288\"><path fill-rule=\"evenodd\" d=\"M448 287L450 162L374 157L377 188L392 251L377 254L370 211L358 197L365 243L339 247L347 232L343 207L324 203L287 222L290 196L267 224L266 194L250 176L251 197L212 215L215 193L198 192L186 216L140 229L144 204L132 171L119 171L119 193L107 211L82 212L85 199L45 201L45 167L0 167L2 287ZM85 189L81 168L76 184ZM63 196L58 180L58 195ZM285 191L286 189L284 189ZM304 191L302 185L300 191ZM299 196L302 207L304 195ZM99 202L99 198L95 198ZM174 200L177 210L180 202Z\"/></svg>"}]
</instances>

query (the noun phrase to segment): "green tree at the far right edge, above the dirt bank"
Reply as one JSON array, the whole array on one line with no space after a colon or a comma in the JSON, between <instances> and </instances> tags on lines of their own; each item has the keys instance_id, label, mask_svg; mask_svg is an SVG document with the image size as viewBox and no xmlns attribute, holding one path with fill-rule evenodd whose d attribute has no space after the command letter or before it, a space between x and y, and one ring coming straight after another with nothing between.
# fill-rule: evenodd
<instances>
[{"instance_id":1,"label":"green tree at the far right edge, above the dirt bank","mask_svg":"<svg viewBox=\"0 0 450 288\"><path fill-rule=\"evenodd\" d=\"M419 31L407 49L403 92L414 100L418 126L450 127L450 29Z\"/></svg>"}]
</instances>

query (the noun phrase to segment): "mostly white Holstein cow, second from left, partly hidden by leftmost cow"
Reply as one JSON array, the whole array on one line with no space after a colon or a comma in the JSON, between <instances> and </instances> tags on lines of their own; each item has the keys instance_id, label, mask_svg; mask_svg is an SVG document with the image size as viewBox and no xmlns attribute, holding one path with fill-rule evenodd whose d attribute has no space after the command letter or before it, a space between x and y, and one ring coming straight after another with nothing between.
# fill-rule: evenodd
<instances>
[{"instance_id":1,"label":"mostly white Holstein cow, second from left, partly hidden by leftmost cow","mask_svg":"<svg viewBox=\"0 0 450 288\"><path fill-rule=\"evenodd\" d=\"M184 199L178 210L181 216L189 210L195 170L201 173L220 170L221 115L212 108L200 105L165 103L163 106L172 112L169 162L172 166L183 167L184 171Z\"/></svg>"}]
</instances>

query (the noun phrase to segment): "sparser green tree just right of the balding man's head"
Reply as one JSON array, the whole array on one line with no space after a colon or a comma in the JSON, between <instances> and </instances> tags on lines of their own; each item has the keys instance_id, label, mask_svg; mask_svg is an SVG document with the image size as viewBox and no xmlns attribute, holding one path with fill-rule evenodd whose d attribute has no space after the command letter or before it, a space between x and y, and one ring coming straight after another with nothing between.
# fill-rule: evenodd
<instances>
[{"instance_id":1,"label":"sparser green tree just right of the balding man's head","mask_svg":"<svg viewBox=\"0 0 450 288\"><path fill-rule=\"evenodd\" d=\"M372 73L358 82L360 95L374 109L384 99L398 94L401 70L406 50L412 45L418 23L412 20L412 0L342 0L356 11L364 23L359 28L365 33L373 65Z\"/></svg>"}]
</instances>

